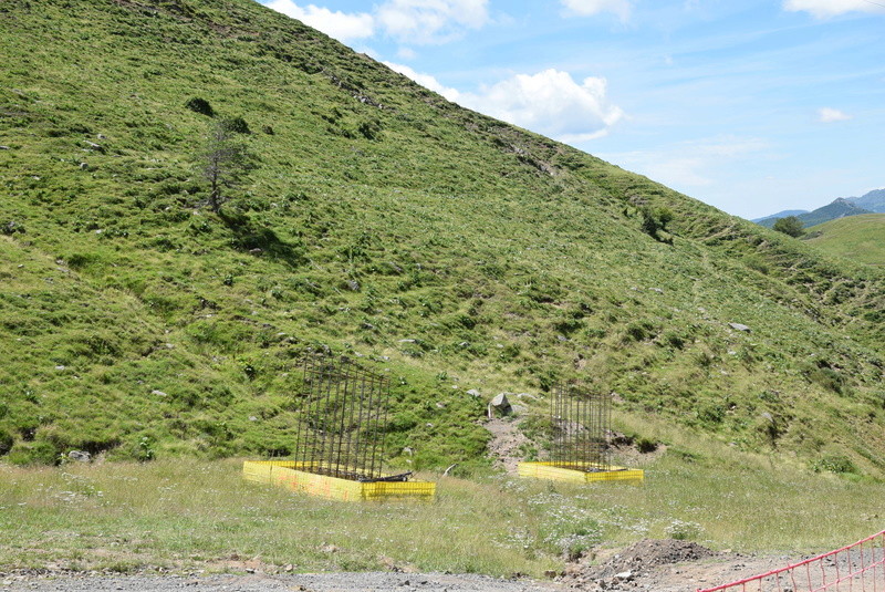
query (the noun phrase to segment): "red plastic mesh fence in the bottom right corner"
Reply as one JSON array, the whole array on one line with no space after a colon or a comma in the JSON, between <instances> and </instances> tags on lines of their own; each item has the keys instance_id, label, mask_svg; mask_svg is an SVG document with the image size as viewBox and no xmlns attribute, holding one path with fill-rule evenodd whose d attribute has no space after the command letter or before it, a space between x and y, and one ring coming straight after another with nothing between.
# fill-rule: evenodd
<instances>
[{"instance_id":1,"label":"red plastic mesh fence in the bottom right corner","mask_svg":"<svg viewBox=\"0 0 885 592\"><path fill-rule=\"evenodd\" d=\"M885 530L761 575L698 592L885 592Z\"/></svg>"}]
</instances>

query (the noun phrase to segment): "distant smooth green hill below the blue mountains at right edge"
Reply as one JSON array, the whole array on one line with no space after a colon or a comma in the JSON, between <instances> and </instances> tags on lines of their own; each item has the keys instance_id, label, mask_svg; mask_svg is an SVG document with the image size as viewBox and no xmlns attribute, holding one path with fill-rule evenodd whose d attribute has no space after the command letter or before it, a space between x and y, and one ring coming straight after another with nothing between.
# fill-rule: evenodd
<instances>
[{"instance_id":1,"label":"distant smooth green hill below the blue mountains at right edge","mask_svg":"<svg viewBox=\"0 0 885 592\"><path fill-rule=\"evenodd\" d=\"M804 237L823 252L868 266L885 266L885 214L866 214L818 225Z\"/></svg>"}]
</instances>

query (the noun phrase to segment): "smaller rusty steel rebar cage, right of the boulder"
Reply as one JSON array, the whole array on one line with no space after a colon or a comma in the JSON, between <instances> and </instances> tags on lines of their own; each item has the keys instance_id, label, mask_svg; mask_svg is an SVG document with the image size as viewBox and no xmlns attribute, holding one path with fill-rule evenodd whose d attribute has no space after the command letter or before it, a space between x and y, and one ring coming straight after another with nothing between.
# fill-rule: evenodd
<instances>
[{"instance_id":1,"label":"smaller rusty steel rebar cage, right of the boulder","mask_svg":"<svg viewBox=\"0 0 885 592\"><path fill-rule=\"evenodd\" d=\"M607 434L612 424L612 397L591 393L573 383L558 385L550 402L551 464L573 470L611 470Z\"/></svg>"}]
</instances>

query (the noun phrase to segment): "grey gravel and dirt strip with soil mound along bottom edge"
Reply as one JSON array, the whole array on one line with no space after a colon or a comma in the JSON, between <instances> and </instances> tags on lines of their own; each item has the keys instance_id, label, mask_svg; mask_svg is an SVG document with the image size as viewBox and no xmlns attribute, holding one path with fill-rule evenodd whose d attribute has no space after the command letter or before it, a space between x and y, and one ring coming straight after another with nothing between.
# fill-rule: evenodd
<instances>
[{"instance_id":1,"label":"grey gravel and dirt strip with soil mound along bottom edge","mask_svg":"<svg viewBox=\"0 0 885 592\"><path fill-rule=\"evenodd\" d=\"M59 592L529 592L612 591L694 592L767 572L802 558L788 554L742 555L714 552L689 541L642 540L626 549L598 551L568 564L562 573L542 581L492 579L475 574L408 573L284 573L268 567L244 568L240 573L114 575L22 571L0 574L0 591Z\"/></svg>"}]
</instances>

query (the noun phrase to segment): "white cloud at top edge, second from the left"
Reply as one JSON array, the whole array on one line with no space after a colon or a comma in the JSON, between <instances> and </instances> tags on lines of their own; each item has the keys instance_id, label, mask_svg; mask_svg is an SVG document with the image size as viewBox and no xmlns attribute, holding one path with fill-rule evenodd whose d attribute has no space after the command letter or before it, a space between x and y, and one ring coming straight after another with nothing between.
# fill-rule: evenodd
<instances>
[{"instance_id":1,"label":"white cloud at top edge, second from the left","mask_svg":"<svg viewBox=\"0 0 885 592\"><path fill-rule=\"evenodd\" d=\"M489 21L488 0L387 0L377 22L398 41L425 45L458 39Z\"/></svg>"}]
</instances>

